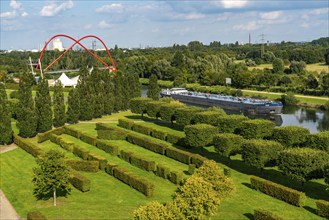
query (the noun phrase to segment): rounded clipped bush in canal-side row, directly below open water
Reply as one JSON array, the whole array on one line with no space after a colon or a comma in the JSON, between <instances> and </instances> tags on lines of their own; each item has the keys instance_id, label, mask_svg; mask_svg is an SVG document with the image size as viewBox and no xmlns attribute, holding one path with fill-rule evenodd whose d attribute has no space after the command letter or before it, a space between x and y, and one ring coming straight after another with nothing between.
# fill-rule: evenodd
<instances>
[{"instance_id":1,"label":"rounded clipped bush in canal-side row, directly below open water","mask_svg":"<svg viewBox=\"0 0 329 220\"><path fill-rule=\"evenodd\" d=\"M307 128L284 126L277 127L273 130L272 139L286 147L295 147L303 144L307 140L309 134L310 131Z\"/></svg>"}]
</instances>

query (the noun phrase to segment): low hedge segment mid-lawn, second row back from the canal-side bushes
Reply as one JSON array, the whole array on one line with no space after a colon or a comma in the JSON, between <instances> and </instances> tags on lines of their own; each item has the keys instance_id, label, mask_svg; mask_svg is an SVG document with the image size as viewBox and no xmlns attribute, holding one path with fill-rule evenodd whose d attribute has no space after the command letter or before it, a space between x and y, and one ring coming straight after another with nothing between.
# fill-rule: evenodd
<instances>
[{"instance_id":1,"label":"low hedge segment mid-lawn, second row back from the canal-side bushes","mask_svg":"<svg viewBox=\"0 0 329 220\"><path fill-rule=\"evenodd\" d=\"M127 141L162 155L165 154L168 147L166 144L159 143L137 134L128 134Z\"/></svg>"}]
</instances>

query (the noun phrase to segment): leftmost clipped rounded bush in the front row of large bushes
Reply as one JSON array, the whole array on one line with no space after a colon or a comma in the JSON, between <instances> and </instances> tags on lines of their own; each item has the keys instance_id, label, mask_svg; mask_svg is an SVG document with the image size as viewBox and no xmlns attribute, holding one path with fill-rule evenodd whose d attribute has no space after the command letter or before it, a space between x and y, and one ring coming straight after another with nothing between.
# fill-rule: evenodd
<instances>
[{"instance_id":1,"label":"leftmost clipped rounded bush in the front row of large bushes","mask_svg":"<svg viewBox=\"0 0 329 220\"><path fill-rule=\"evenodd\" d=\"M184 128L185 141L191 147L205 147L212 143L217 128L208 124L187 125Z\"/></svg>"}]
</instances>

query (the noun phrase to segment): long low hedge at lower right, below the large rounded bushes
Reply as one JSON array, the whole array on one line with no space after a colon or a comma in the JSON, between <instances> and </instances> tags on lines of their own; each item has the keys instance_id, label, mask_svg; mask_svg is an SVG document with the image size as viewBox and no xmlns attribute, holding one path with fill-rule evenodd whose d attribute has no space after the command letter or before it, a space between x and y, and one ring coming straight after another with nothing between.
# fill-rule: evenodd
<instances>
[{"instance_id":1,"label":"long low hedge at lower right, below the large rounded bushes","mask_svg":"<svg viewBox=\"0 0 329 220\"><path fill-rule=\"evenodd\" d=\"M299 192L257 176L251 176L250 183L253 189L259 190L289 204L302 207L305 203L306 196L303 192Z\"/></svg>"}]
</instances>

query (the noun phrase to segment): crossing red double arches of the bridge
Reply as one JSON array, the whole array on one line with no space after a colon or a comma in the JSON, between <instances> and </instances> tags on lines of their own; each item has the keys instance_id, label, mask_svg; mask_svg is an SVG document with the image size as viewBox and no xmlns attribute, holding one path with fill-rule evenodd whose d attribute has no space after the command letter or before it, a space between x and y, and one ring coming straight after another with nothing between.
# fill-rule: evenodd
<instances>
[{"instance_id":1,"label":"crossing red double arches of the bridge","mask_svg":"<svg viewBox=\"0 0 329 220\"><path fill-rule=\"evenodd\" d=\"M69 50L71 50L76 44L79 44L83 49L85 49L90 55L92 55L97 61L99 61L99 62L101 62L104 66L106 66L109 70L111 70L111 71L113 71L113 72L116 72L117 71L117 68L116 68L116 65L115 65L115 62L114 62L114 60L113 60L113 58L112 58L112 56L111 56L111 53L110 53L110 51L109 51L109 49L107 48L107 46L105 45L105 43L99 38L99 37L97 37L97 36L95 36L95 35L86 35L86 36L84 36L84 37L81 37L80 39L78 39L78 40L76 40L76 39L74 39L73 37L71 37L71 36L68 36L68 35L66 35L66 34L57 34L57 35L55 35L55 36L53 36L52 38L50 38L47 42L46 42L46 44L45 44L45 46L42 48L42 51L41 51L41 53L40 53L40 57L39 57L39 60L40 60L40 62L41 62L41 60L42 60L42 57L43 57L43 54L44 54L44 52L45 52L45 50L46 50L46 48L47 48L47 46L48 46L48 44L54 39L54 38L56 38L56 37L65 37L65 38L69 38L69 39L71 39L72 41L74 41L74 43L67 49L67 50L65 50L60 56L58 56L53 62L51 62L44 70L43 70L43 72L46 72L52 65L54 65L59 59L61 59ZM103 44L103 46L104 46L104 48L105 48L105 50L106 50L106 52L107 52L107 55L109 56L109 58L110 58L110 62L111 62L111 64L112 64L112 66L109 66L107 63L105 63L103 60L101 60L97 55L95 55L92 51L90 51L88 48L86 48L83 44L81 44L80 43L80 41L82 41L82 40L84 40L84 39L86 39L86 38L95 38L95 39L97 39L97 40L99 40L102 44ZM36 66L36 69L38 69L39 68L39 64Z\"/></svg>"}]
</instances>

